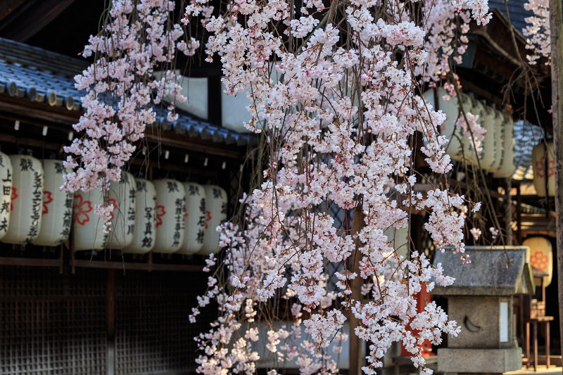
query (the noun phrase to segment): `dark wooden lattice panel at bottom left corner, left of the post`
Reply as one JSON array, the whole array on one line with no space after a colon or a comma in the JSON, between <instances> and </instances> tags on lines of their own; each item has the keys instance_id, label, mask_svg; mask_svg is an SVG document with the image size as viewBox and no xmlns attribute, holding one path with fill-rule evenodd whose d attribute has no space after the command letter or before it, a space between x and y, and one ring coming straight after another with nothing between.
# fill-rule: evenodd
<instances>
[{"instance_id":1,"label":"dark wooden lattice panel at bottom left corner, left of the post","mask_svg":"<svg viewBox=\"0 0 563 375\"><path fill-rule=\"evenodd\" d=\"M0 374L103 374L104 275L0 267Z\"/></svg>"}]
</instances>

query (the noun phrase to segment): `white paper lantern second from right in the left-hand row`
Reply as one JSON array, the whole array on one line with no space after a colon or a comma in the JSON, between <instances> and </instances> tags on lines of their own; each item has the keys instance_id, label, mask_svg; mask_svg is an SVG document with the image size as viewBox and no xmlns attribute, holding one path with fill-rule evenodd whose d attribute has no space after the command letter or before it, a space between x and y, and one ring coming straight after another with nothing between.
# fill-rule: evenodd
<instances>
[{"instance_id":1,"label":"white paper lantern second from right in the left-hand row","mask_svg":"<svg viewBox=\"0 0 563 375\"><path fill-rule=\"evenodd\" d=\"M195 254L203 247L205 239L205 189L200 184L184 182L186 191L186 232L179 254Z\"/></svg>"}]
</instances>

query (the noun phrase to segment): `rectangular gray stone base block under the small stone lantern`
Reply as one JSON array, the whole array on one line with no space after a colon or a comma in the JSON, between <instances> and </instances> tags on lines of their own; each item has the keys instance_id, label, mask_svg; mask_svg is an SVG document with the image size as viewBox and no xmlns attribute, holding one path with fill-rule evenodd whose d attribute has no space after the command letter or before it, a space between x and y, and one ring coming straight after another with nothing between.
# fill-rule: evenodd
<instances>
[{"instance_id":1,"label":"rectangular gray stone base block under the small stone lantern","mask_svg":"<svg viewBox=\"0 0 563 375\"><path fill-rule=\"evenodd\" d=\"M521 348L438 349L438 371L502 373L522 368Z\"/></svg>"}]
</instances>

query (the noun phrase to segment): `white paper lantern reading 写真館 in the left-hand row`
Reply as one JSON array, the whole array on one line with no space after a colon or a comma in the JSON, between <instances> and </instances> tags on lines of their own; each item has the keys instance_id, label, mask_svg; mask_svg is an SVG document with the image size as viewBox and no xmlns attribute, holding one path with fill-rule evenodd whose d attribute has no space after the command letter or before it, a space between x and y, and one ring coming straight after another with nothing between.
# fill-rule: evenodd
<instances>
[{"instance_id":1,"label":"white paper lantern reading \u5199\u771f\u9928 in the left-hand row","mask_svg":"<svg viewBox=\"0 0 563 375\"><path fill-rule=\"evenodd\" d=\"M144 254L151 251L156 239L156 190L152 182L146 179L135 179L137 184L137 215L133 241L122 253Z\"/></svg>"}]
</instances>

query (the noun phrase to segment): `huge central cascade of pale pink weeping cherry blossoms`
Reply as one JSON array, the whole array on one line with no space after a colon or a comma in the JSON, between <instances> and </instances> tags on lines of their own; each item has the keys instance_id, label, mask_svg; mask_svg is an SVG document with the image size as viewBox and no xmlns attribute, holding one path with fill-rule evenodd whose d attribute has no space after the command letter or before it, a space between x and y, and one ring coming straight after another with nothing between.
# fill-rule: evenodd
<instances>
[{"instance_id":1,"label":"huge central cascade of pale pink weeping cherry blossoms","mask_svg":"<svg viewBox=\"0 0 563 375\"><path fill-rule=\"evenodd\" d=\"M431 169L451 170L448 140L437 131L445 115L417 87L443 80L448 59L463 53L463 37L450 50L457 17L486 23L490 15L486 1L429 1L422 18L405 5L234 0L211 15L207 0L186 7L182 22L205 18L208 61L220 57L228 94L248 92L245 125L264 132L270 150L265 181L241 198L243 220L219 228L227 277L211 277L190 316L217 301L220 317L196 338L199 373L255 371L262 340L279 366L296 360L301 374L336 374L327 347L341 343L350 314L359 321L350 334L369 345L365 374L381 367L393 342L424 367L420 345L459 332L434 303L417 312L415 298L423 286L453 279L388 229L408 228L410 210L426 210L424 228L438 248L453 246L467 260L464 212L479 205L443 189L415 192L411 139L422 132ZM386 16L376 18L381 6ZM354 283L364 284L365 298L352 297ZM284 319L260 338L260 322L274 319L279 300L288 306Z\"/></svg>"}]
</instances>

